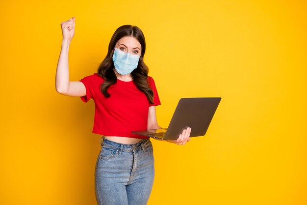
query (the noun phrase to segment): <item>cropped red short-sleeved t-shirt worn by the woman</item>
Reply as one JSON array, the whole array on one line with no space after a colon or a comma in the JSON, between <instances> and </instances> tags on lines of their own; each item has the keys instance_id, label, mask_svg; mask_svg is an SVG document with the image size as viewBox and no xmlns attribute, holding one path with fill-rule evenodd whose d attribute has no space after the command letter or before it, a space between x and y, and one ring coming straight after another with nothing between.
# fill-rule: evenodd
<instances>
[{"instance_id":1,"label":"cropped red short-sleeved t-shirt worn by the woman","mask_svg":"<svg viewBox=\"0 0 307 205\"><path fill-rule=\"evenodd\" d=\"M131 133L134 130L146 130L149 107L161 105L153 78L148 76L148 80L153 89L154 104L149 103L146 95L133 81L125 82L117 79L117 83L107 89L110 97L106 98L100 91L104 79L98 73L79 80L86 88L86 95L80 97L81 100L88 102L93 98L95 102L93 133L104 136L148 138Z\"/></svg>"}]
</instances>

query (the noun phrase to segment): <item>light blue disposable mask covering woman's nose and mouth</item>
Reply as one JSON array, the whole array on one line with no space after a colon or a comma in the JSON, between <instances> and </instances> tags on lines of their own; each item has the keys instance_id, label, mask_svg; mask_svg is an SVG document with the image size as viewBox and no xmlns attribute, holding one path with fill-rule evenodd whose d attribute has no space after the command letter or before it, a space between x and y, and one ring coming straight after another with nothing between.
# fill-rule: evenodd
<instances>
[{"instance_id":1,"label":"light blue disposable mask covering woman's nose and mouth","mask_svg":"<svg viewBox=\"0 0 307 205\"><path fill-rule=\"evenodd\" d=\"M115 48L112 58L115 70L121 75L126 75L131 73L137 67L140 57L141 56L139 55L132 55L129 53L125 53L119 50L118 48Z\"/></svg>"}]
</instances>

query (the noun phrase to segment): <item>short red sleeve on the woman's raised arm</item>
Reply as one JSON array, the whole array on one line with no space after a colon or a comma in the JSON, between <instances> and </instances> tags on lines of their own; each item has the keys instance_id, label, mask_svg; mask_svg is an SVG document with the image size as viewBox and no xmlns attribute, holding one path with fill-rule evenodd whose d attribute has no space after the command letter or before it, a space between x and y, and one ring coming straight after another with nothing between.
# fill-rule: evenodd
<instances>
[{"instance_id":1,"label":"short red sleeve on the woman's raised arm","mask_svg":"<svg viewBox=\"0 0 307 205\"><path fill-rule=\"evenodd\" d=\"M97 85L97 80L98 80L97 75L98 74L94 73L93 75L86 76L82 78L81 80L79 80L80 82L84 84L86 88L86 94L80 97L83 102L88 102L91 98L94 97L95 90L97 89L96 87L98 86Z\"/></svg>"}]
</instances>

